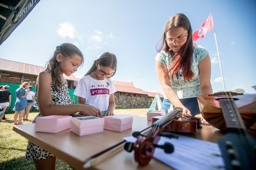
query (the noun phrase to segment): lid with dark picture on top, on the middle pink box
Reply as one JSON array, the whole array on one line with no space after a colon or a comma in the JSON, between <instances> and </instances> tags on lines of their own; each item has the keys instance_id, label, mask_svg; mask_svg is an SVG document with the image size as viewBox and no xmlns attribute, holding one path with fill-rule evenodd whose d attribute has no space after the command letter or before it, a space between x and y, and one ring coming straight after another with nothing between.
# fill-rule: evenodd
<instances>
[{"instance_id":1,"label":"lid with dark picture on top, on the middle pink box","mask_svg":"<svg viewBox=\"0 0 256 170\"><path fill-rule=\"evenodd\" d=\"M103 126L104 119L94 116L72 117L70 120L70 124L78 128Z\"/></svg>"}]
</instances>

